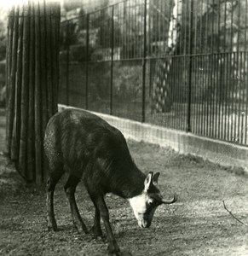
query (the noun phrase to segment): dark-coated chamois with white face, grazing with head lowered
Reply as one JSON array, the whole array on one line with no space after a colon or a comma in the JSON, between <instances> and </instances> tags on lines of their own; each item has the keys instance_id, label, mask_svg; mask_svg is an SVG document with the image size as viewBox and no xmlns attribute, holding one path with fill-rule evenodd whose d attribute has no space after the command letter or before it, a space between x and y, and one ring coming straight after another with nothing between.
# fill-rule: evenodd
<instances>
[{"instance_id":1,"label":"dark-coated chamois with white face, grazing with head lowered","mask_svg":"<svg viewBox=\"0 0 248 256\"><path fill-rule=\"evenodd\" d=\"M65 185L73 224L78 232L88 233L80 217L75 201L75 190L83 180L95 206L93 233L102 236L101 218L106 228L110 253L120 255L118 244L109 223L109 214L104 196L119 195L130 201L139 226L147 228L153 214L161 204L177 200L176 194L164 201L156 187L159 172L147 176L141 172L130 156L123 134L105 120L84 110L66 109L56 113L47 125L44 151L49 163L47 182L48 229L57 230L53 195L55 185L65 173L69 173Z\"/></svg>"}]
</instances>

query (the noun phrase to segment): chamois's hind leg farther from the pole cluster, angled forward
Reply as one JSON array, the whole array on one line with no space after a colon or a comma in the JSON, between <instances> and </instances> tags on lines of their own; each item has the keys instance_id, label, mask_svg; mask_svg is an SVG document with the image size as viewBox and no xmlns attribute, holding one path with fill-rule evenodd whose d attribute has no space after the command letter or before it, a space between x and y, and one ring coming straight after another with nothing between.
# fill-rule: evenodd
<instances>
[{"instance_id":1,"label":"chamois's hind leg farther from the pole cluster, angled forward","mask_svg":"<svg viewBox=\"0 0 248 256\"><path fill-rule=\"evenodd\" d=\"M75 190L78 185L78 182L79 182L78 177L70 175L68 177L68 180L64 188L66 191L66 196L70 203L73 224L76 226L78 233L82 233L84 231L84 233L87 234L88 230L86 228L86 225L84 224L84 221L80 216L80 213L78 211L78 206L75 200Z\"/></svg>"}]
</instances>

